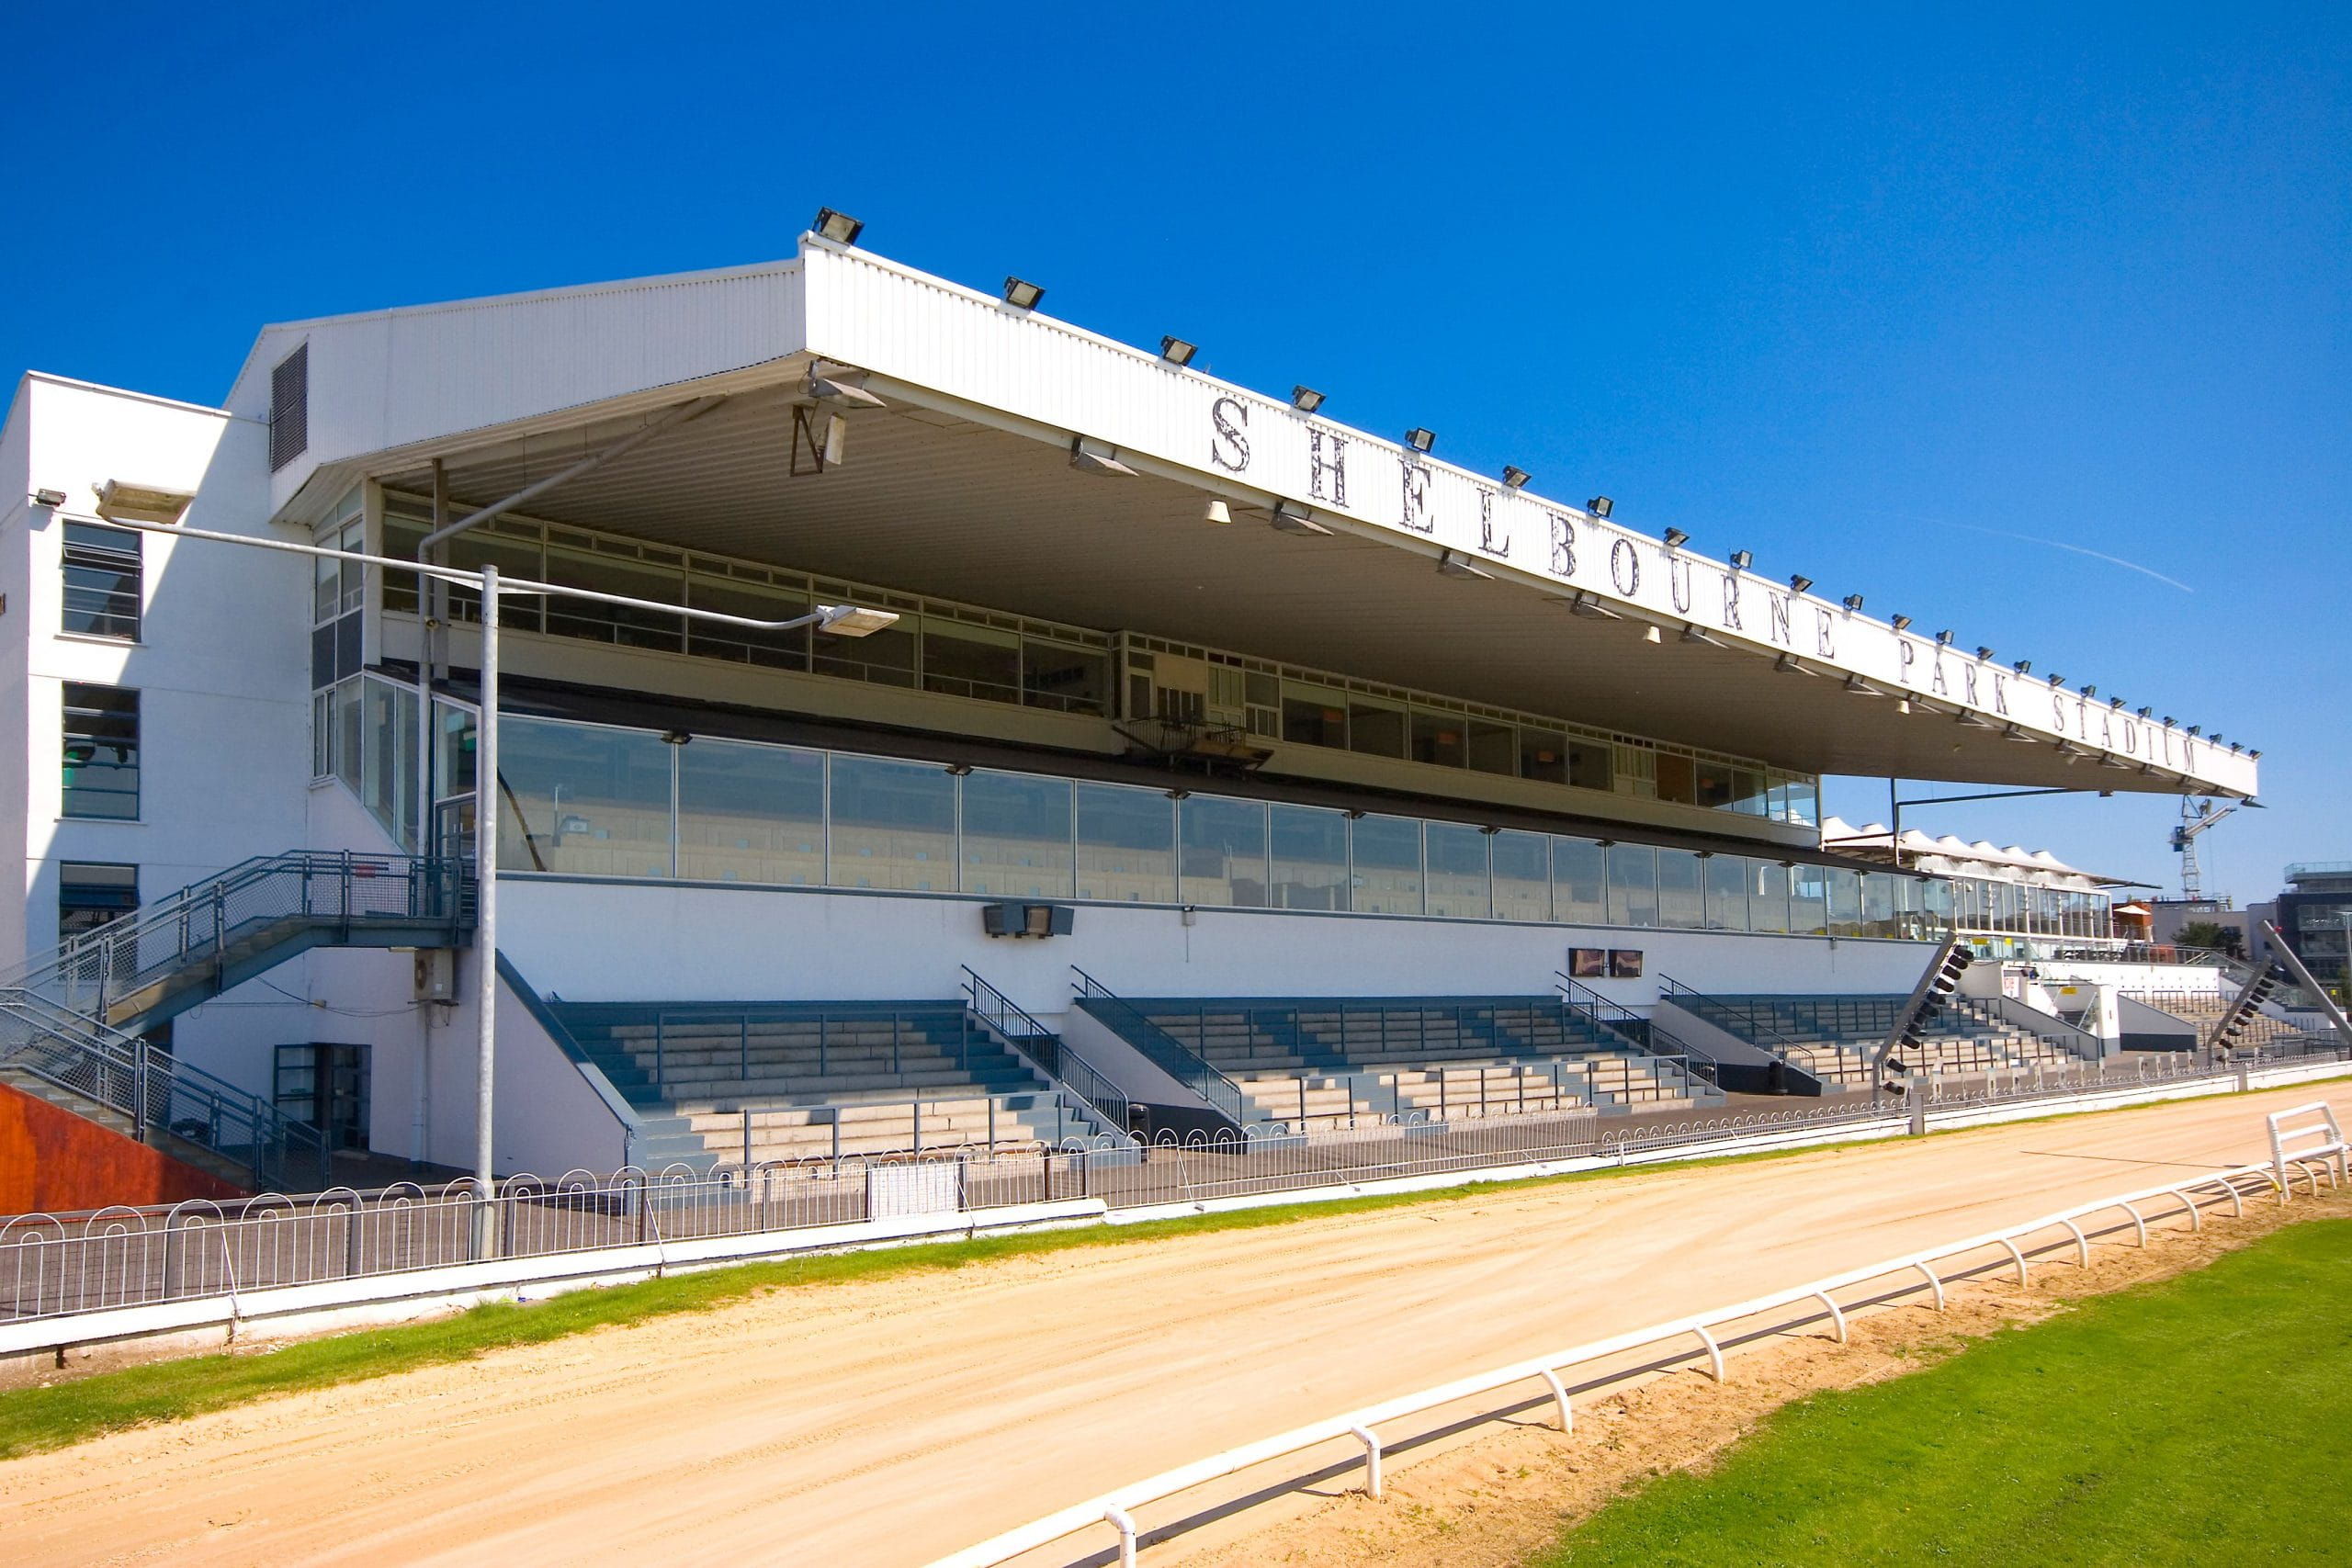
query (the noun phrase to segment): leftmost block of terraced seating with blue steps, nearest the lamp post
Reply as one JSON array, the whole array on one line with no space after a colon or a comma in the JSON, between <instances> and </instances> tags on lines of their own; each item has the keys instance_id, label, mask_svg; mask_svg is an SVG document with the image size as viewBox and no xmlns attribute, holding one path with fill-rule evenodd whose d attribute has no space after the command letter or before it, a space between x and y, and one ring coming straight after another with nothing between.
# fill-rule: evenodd
<instances>
[{"instance_id":1,"label":"leftmost block of terraced seating with blue steps, nearest the lamp post","mask_svg":"<svg viewBox=\"0 0 2352 1568\"><path fill-rule=\"evenodd\" d=\"M553 1004L668 1145L649 1159L840 1159L1101 1133L957 1001Z\"/></svg>"}]
</instances>

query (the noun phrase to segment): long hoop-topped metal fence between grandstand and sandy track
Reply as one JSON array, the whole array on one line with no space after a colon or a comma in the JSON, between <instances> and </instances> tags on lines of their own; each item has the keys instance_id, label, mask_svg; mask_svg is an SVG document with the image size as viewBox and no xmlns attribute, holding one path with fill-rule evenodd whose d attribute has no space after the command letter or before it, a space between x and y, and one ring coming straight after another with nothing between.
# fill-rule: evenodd
<instances>
[{"instance_id":1,"label":"long hoop-topped metal fence between grandstand and sandy track","mask_svg":"<svg viewBox=\"0 0 2352 1568\"><path fill-rule=\"evenodd\" d=\"M2345 1051L2314 1051L2343 1058ZM1581 1159L1630 1161L1726 1140L1790 1143L1900 1133L1933 1110L2079 1103L2098 1091L2232 1081L2239 1065L2138 1063L2112 1072L2023 1072L2011 1084L1922 1091L1905 1103L1860 1095L1771 1112L1599 1121L1590 1110L1432 1121L1378 1117L1334 1133L1251 1126L1136 1145L1124 1135L1065 1145L955 1150L931 1157L842 1157L710 1171L670 1166L612 1175L510 1175L485 1199L470 1182L315 1197L263 1194L240 1204L101 1208L0 1222L0 1321L26 1321L275 1286L480 1262L475 1213L494 1211L496 1258L548 1258L612 1246L856 1225L908 1213L906 1192L941 1192L953 1211L1058 1199L1108 1208L1209 1204L1397 1178ZM931 1173L931 1175L924 1175Z\"/></svg>"}]
</instances>

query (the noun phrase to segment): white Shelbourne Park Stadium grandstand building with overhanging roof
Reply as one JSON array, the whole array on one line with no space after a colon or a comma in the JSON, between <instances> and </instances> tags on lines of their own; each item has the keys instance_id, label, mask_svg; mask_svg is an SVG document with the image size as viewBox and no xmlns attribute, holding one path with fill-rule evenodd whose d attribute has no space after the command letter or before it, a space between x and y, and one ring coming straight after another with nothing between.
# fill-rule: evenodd
<instances>
[{"instance_id":1,"label":"white Shelbourne Park Stadium grandstand building with overhanging roof","mask_svg":"<svg viewBox=\"0 0 2352 1568\"><path fill-rule=\"evenodd\" d=\"M499 1173L1835 1095L1955 917L2009 926L1943 851L1825 849L1820 776L2256 792L1929 621L828 223L268 327L219 409L19 383L0 1067L87 1114L73 1063L165 1074L141 1135L247 1185L313 1178L254 1154L289 1124L475 1168L485 1037ZM1907 1067L2084 1051L2020 1006Z\"/></svg>"}]
</instances>

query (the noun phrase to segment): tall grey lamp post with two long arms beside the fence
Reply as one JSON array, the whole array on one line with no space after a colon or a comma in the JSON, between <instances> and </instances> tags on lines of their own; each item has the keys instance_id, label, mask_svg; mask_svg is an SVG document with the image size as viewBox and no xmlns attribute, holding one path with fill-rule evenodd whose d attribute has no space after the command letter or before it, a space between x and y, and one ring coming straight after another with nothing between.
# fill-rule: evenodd
<instances>
[{"instance_id":1,"label":"tall grey lamp post with two long arms beside the fence","mask_svg":"<svg viewBox=\"0 0 2352 1568\"><path fill-rule=\"evenodd\" d=\"M75 520L82 522L82 520ZM212 529L186 529L172 522L89 520L113 529L139 534L162 534L165 538L202 538L252 550L275 550L280 555L310 555L339 562L360 562L388 571L414 571L419 576L419 630L423 630L423 585L428 578L477 588L482 595L482 658L480 658L480 715L473 741L473 865L475 865L475 1103L473 1103L473 1255L489 1258L496 1251L496 1173L492 1168L494 1100L499 1088L496 1060L496 1009L499 1009L499 599L503 595L593 599L597 604L621 604L628 609L652 609L684 621L708 621L715 625L739 625L757 632L790 632L802 625L830 630L840 637L868 637L898 621L896 611L866 609L861 604L818 604L807 616L783 621L755 621L750 616L727 616L715 609L689 609L659 599L633 599L619 592L595 592L590 588L564 588L562 583L536 583L532 578L506 578L496 567L480 571L442 567L430 562L405 562L390 555L367 555L365 550L332 550L327 545L296 545L282 538L254 538L247 534L219 534ZM416 703L430 719L433 684L426 672L423 649L416 661ZM426 849L423 825L428 820L428 790L419 783L416 853Z\"/></svg>"}]
</instances>

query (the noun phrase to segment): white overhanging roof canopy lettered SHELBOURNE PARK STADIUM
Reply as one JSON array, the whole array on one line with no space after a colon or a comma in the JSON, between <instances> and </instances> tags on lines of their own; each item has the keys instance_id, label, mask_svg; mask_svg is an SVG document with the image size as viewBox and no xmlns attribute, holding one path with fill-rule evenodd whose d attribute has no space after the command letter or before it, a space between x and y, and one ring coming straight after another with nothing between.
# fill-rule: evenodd
<instances>
[{"instance_id":1,"label":"white overhanging roof canopy lettered SHELBOURNE PARK STADIUM","mask_svg":"<svg viewBox=\"0 0 2352 1568\"><path fill-rule=\"evenodd\" d=\"M280 498L299 512L296 496L358 475L428 489L440 458L461 517L668 409L722 395L529 510L1818 773L2256 790L2249 755L2105 698L863 252L809 237L795 263L722 282L717 324L682 322L675 296L656 310L635 299L654 284L626 284L517 299L503 329L480 320L501 301L275 327L254 360L266 371L308 341L313 400L336 383L336 336L367 343L367 411L341 418L313 404L313 430L412 437L315 451L282 475ZM764 299L767 313L746 299ZM668 353L670 339L649 339L659 331L703 331L708 346ZM430 409L452 397L442 381L492 374L452 362L461 350L496 360L515 390L503 402L459 397L489 423L435 430ZM532 369L534 357L588 355L597 360ZM623 386L628 374L604 364L642 371L656 360L699 374ZM811 371L882 407L814 402ZM539 407L557 388L602 395ZM816 473L807 437L795 458L795 409L811 435L833 414L847 421L840 463ZM1073 442L1110 458L1108 473L1073 463ZM1232 524L1204 522L1211 498L1228 503ZM1277 505L1329 534L1270 527Z\"/></svg>"}]
</instances>

